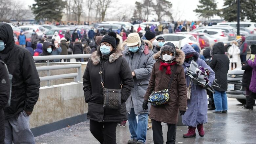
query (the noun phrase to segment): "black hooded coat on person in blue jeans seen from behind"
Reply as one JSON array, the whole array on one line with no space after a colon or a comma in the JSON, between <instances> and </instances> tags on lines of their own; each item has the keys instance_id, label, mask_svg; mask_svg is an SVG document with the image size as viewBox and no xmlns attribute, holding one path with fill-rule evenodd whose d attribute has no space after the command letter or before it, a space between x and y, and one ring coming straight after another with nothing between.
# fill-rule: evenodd
<instances>
[{"instance_id":1,"label":"black hooded coat on person in blue jeans seen from behind","mask_svg":"<svg viewBox=\"0 0 256 144\"><path fill-rule=\"evenodd\" d=\"M215 72L215 78L218 80L217 83L220 88L215 88L215 90L220 92L227 91L227 72L229 70L229 58L225 54L224 44L219 42L213 46L212 49L212 61L209 66Z\"/></svg>"}]
</instances>

